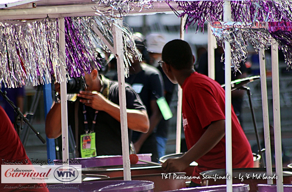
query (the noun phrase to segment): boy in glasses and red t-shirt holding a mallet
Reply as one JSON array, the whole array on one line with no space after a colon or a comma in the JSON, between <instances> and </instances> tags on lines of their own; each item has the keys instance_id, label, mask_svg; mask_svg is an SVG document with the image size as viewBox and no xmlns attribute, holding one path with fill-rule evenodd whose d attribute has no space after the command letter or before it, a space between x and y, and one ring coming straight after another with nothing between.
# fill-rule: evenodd
<instances>
[{"instance_id":1,"label":"boy in glasses and red t-shirt holding a mallet","mask_svg":"<svg viewBox=\"0 0 292 192\"><path fill-rule=\"evenodd\" d=\"M162 50L162 69L172 83L182 87L182 120L188 152L178 159L169 159L162 168L181 172L190 163L198 166L193 176L206 170L226 168L225 91L214 80L195 72L195 58L189 44L176 39ZM232 168L253 167L249 142L231 109ZM192 179L190 187L200 186Z\"/></svg>"}]
</instances>

